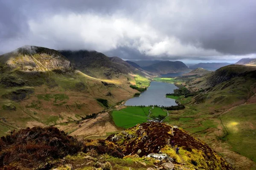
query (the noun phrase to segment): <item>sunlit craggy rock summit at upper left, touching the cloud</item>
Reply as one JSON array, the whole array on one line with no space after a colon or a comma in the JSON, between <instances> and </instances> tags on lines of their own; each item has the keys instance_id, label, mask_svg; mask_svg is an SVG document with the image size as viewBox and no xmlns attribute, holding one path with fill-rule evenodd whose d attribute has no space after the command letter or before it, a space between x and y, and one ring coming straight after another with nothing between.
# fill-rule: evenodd
<instances>
[{"instance_id":1,"label":"sunlit craggy rock summit at upper left, touching the cloud","mask_svg":"<svg viewBox=\"0 0 256 170\"><path fill-rule=\"evenodd\" d=\"M0 62L10 69L22 71L73 71L70 61L58 51L25 45L0 56Z\"/></svg>"}]
</instances>

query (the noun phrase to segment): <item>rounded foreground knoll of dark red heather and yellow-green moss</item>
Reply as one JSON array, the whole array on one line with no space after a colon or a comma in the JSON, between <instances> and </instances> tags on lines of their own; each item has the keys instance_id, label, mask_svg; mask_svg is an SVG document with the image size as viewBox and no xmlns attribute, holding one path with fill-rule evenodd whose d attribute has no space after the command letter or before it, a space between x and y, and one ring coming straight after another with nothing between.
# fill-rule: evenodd
<instances>
[{"instance_id":1,"label":"rounded foreground knoll of dark red heather and yellow-green moss","mask_svg":"<svg viewBox=\"0 0 256 170\"><path fill-rule=\"evenodd\" d=\"M175 168L231 170L230 165L207 144L190 136L186 131L163 123L143 123L108 137L125 155L166 154ZM175 146L172 147L172 141ZM180 153L175 153L175 148Z\"/></svg>"}]
</instances>

